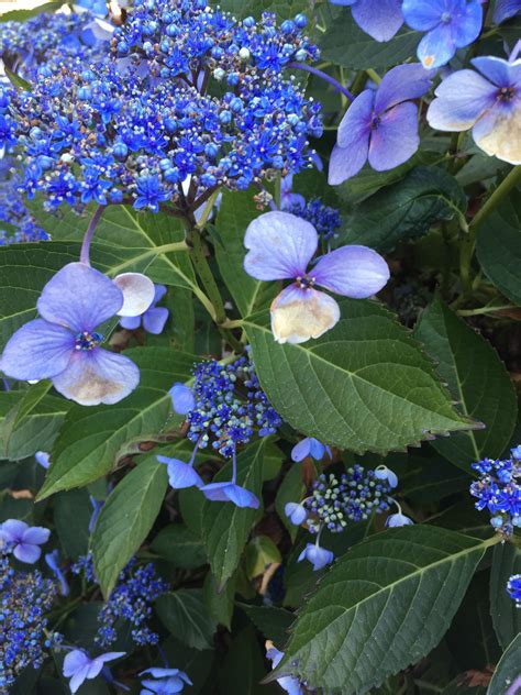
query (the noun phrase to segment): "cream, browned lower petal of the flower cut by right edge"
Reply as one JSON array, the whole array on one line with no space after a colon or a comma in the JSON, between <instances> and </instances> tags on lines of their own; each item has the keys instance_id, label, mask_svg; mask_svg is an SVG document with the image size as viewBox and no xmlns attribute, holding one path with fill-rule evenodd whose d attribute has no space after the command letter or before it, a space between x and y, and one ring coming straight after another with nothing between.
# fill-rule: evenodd
<instances>
[{"instance_id":1,"label":"cream, browned lower petal of the flower cut by right edge","mask_svg":"<svg viewBox=\"0 0 521 695\"><path fill-rule=\"evenodd\" d=\"M473 128L474 142L489 156L521 164L521 99L513 108L496 108Z\"/></svg>"}]
</instances>

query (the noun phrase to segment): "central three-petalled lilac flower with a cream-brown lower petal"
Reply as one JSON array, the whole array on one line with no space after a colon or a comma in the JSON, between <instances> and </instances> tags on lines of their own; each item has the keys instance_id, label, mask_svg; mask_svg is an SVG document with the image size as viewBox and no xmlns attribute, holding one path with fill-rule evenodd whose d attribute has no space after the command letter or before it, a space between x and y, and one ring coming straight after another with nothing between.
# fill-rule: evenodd
<instances>
[{"instance_id":1,"label":"central three-petalled lilac flower with a cream-brown lower petal","mask_svg":"<svg viewBox=\"0 0 521 695\"><path fill-rule=\"evenodd\" d=\"M318 245L317 230L289 212L265 212L250 223L244 268L259 280L293 279L271 304L271 331L279 343L303 343L320 338L340 319L340 307L319 285L332 293L363 299L389 279L384 258L367 246L343 246L322 256L308 271Z\"/></svg>"}]
</instances>

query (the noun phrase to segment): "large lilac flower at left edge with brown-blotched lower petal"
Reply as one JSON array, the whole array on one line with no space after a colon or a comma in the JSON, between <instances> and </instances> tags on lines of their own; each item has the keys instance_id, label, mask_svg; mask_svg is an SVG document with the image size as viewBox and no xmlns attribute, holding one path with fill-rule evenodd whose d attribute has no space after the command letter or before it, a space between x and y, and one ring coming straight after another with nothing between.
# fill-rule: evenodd
<instances>
[{"instance_id":1,"label":"large lilac flower at left edge with brown-blotched lower petal","mask_svg":"<svg viewBox=\"0 0 521 695\"><path fill-rule=\"evenodd\" d=\"M140 382L140 369L99 345L96 328L114 317L123 295L112 280L82 263L69 263L44 287L42 318L22 326L4 348L0 367L16 379L49 378L82 406L115 404Z\"/></svg>"}]
</instances>

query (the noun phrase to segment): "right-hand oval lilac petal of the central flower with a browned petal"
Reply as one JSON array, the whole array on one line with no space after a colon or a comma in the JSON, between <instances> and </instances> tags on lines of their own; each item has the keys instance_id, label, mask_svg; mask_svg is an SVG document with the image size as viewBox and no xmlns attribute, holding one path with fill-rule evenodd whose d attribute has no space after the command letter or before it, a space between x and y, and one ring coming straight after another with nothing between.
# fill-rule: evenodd
<instances>
[{"instance_id":1,"label":"right-hand oval lilac petal of the central flower with a browned petal","mask_svg":"<svg viewBox=\"0 0 521 695\"><path fill-rule=\"evenodd\" d=\"M365 299L385 287L389 279L389 267L373 249L342 246L319 261L313 276L318 285L337 295Z\"/></svg>"}]
</instances>

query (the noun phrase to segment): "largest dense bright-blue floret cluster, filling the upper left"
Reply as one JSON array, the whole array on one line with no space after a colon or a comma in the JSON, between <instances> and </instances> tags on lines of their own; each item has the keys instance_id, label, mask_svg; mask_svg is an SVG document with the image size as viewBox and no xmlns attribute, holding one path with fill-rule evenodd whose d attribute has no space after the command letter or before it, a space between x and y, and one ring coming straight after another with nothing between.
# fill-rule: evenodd
<instances>
[{"instance_id":1,"label":"largest dense bright-blue floret cluster, filling the upper left","mask_svg":"<svg viewBox=\"0 0 521 695\"><path fill-rule=\"evenodd\" d=\"M187 212L219 186L308 166L320 104L280 74L317 58L304 25L298 15L277 27L270 13L236 22L200 0L138 2L102 64L41 69L12 97L22 188L51 209L170 201Z\"/></svg>"}]
</instances>

